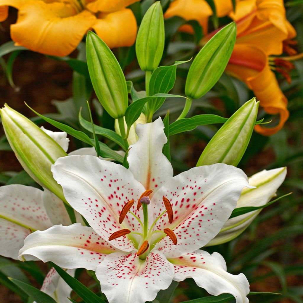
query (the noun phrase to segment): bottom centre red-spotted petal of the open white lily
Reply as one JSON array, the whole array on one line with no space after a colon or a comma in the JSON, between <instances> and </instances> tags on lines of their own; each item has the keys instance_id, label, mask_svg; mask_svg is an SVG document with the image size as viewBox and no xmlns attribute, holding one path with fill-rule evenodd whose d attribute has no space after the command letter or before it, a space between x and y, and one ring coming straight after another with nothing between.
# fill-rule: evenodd
<instances>
[{"instance_id":1,"label":"bottom centre red-spotted petal of the open white lily","mask_svg":"<svg viewBox=\"0 0 303 303\"><path fill-rule=\"evenodd\" d=\"M104 258L96 276L109 303L144 303L168 288L174 267L159 251L152 251L146 260L134 252L115 252Z\"/></svg>"}]
</instances>

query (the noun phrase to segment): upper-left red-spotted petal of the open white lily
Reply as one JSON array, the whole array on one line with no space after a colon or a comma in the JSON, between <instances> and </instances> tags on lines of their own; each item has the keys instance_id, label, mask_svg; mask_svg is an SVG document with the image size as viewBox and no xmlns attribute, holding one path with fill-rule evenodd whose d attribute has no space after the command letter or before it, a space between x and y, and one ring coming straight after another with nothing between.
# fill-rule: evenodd
<instances>
[{"instance_id":1,"label":"upper-left red-spotted petal of the open white lily","mask_svg":"<svg viewBox=\"0 0 303 303\"><path fill-rule=\"evenodd\" d=\"M122 165L100 160L94 156L67 156L52 166L55 180L63 188L68 203L88 221L104 239L122 228L141 231L132 215L119 224L119 214L129 200L138 200L145 188ZM131 210L140 217L142 210ZM141 216L141 218L143 215ZM125 236L110 241L123 251L134 249Z\"/></svg>"}]
</instances>

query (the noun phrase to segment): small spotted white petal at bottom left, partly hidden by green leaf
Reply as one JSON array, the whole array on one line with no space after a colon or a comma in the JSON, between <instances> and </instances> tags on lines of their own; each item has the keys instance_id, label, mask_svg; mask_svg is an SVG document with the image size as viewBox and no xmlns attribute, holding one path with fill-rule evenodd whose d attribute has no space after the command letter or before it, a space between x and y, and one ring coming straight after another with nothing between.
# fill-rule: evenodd
<instances>
[{"instance_id":1,"label":"small spotted white petal at bottom left, partly hidden by green leaf","mask_svg":"<svg viewBox=\"0 0 303 303\"><path fill-rule=\"evenodd\" d=\"M75 269L68 269L66 272L72 277L75 275ZM53 267L48 271L40 290L52 297L57 303L70 303L68 297L71 295L72 288L66 284Z\"/></svg>"}]
</instances>

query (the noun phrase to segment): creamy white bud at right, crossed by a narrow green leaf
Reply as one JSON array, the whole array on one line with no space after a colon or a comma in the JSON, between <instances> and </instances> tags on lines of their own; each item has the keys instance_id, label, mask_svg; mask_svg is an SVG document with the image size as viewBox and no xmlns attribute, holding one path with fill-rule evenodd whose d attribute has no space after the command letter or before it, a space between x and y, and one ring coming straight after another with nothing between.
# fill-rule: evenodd
<instances>
[{"instance_id":1,"label":"creamy white bud at right, crossed by a narrow green leaf","mask_svg":"<svg viewBox=\"0 0 303 303\"><path fill-rule=\"evenodd\" d=\"M286 176L286 167L263 170L248 178L248 183L256 188L244 188L236 208L246 206L262 206L267 204L276 194ZM262 210L228 219L221 231L206 246L218 245L238 237L257 217Z\"/></svg>"}]
</instances>

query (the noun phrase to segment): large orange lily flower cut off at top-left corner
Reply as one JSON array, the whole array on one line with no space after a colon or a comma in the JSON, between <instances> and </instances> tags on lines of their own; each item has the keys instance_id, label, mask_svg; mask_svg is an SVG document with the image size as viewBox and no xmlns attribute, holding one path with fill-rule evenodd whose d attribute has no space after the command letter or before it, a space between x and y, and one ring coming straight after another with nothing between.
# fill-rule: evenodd
<instances>
[{"instance_id":1,"label":"large orange lily flower cut off at top-left corner","mask_svg":"<svg viewBox=\"0 0 303 303\"><path fill-rule=\"evenodd\" d=\"M0 20L7 6L19 10L11 25L15 45L47 55L66 56L93 28L110 47L131 46L137 23L126 6L138 0L0 0ZM1 13L3 11L3 14Z\"/></svg>"}]
</instances>

